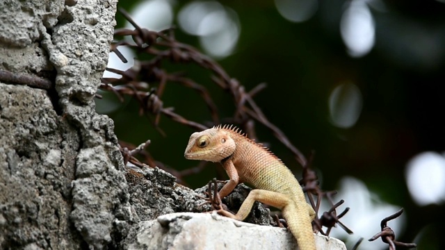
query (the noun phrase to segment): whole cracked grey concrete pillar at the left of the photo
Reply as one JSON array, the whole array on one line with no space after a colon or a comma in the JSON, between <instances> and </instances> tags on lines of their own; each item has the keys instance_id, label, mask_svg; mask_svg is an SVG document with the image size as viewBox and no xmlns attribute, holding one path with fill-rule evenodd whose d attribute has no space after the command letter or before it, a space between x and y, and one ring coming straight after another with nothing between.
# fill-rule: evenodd
<instances>
[{"instance_id":1,"label":"whole cracked grey concrete pillar at the left of the photo","mask_svg":"<svg viewBox=\"0 0 445 250\"><path fill-rule=\"evenodd\" d=\"M94 103L116 3L0 1L0 69L56 74L59 106L0 83L1 248L116 247L136 218L113 121Z\"/></svg>"}]
</instances>

